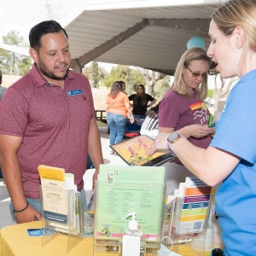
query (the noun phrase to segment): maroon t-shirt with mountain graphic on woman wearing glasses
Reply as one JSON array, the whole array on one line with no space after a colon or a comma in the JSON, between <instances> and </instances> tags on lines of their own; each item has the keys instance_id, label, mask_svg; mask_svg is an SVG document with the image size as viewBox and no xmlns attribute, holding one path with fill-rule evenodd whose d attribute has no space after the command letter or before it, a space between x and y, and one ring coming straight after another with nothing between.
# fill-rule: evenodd
<instances>
[{"instance_id":1,"label":"maroon t-shirt with mountain graphic on woman wearing glasses","mask_svg":"<svg viewBox=\"0 0 256 256\"><path fill-rule=\"evenodd\" d=\"M174 128L174 131L178 131L187 125L207 125L208 119L207 105L198 100L195 93L190 99L186 99L170 89L160 102L160 127ZM189 137L189 142L200 148L207 148L211 140L210 134L205 137Z\"/></svg>"}]
</instances>

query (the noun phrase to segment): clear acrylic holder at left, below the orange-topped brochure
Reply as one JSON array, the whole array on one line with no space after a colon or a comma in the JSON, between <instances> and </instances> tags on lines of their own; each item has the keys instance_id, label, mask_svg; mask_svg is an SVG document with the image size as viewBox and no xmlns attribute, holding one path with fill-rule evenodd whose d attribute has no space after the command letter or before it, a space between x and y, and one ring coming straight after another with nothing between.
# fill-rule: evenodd
<instances>
[{"instance_id":1,"label":"clear acrylic holder at left, below the orange-topped brochure","mask_svg":"<svg viewBox=\"0 0 256 256\"><path fill-rule=\"evenodd\" d=\"M47 245L55 236L67 236L67 253L69 253L84 238L84 207L80 201L79 193L70 189L66 190L66 194L67 215L62 215L56 213L57 205L55 205L52 212L45 211L41 190L43 216L42 246Z\"/></svg>"}]
</instances>

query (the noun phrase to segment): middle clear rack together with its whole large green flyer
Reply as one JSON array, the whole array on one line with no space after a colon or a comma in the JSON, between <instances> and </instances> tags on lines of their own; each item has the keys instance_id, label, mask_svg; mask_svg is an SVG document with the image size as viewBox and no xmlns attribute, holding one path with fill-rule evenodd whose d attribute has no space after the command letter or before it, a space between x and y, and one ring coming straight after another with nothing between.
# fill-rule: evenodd
<instances>
[{"instance_id":1,"label":"middle clear rack together with its whole large green flyer","mask_svg":"<svg viewBox=\"0 0 256 256\"><path fill-rule=\"evenodd\" d=\"M155 179L161 173L163 179ZM127 214L136 212L143 233L140 256L157 255L166 192L166 184L161 183L164 175L163 167L101 166L96 183L95 253L121 255L120 240L131 220Z\"/></svg>"}]
</instances>

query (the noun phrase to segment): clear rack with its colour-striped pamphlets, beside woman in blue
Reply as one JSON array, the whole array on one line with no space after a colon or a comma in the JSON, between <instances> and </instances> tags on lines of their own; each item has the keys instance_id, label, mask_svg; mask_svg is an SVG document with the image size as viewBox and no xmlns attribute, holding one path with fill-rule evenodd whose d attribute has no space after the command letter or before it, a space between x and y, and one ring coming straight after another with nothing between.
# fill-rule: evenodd
<instances>
[{"instance_id":1,"label":"clear rack with its colour-striped pamphlets, beside woman in blue","mask_svg":"<svg viewBox=\"0 0 256 256\"><path fill-rule=\"evenodd\" d=\"M212 250L212 195L211 187L197 177L186 177L180 183L179 195L169 206L168 236L172 238L173 251L189 247L196 255L207 256Z\"/></svg>"}]
</instances>

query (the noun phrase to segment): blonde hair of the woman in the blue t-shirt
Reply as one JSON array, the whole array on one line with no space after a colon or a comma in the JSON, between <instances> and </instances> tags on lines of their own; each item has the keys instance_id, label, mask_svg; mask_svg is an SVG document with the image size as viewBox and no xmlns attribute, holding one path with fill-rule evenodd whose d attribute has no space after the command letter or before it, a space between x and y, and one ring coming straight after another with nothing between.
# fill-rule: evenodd
<instances>
[{"instance_id":1,"label":"blonde hair of the woman in the blue t-shirt","mask_svg":"<svg viewBox=\"0 0 256 256\"><path fill-rule=\"evenodd\" d=\"M212 20L226 37L241 26L245 32L241 61L249 54L248 49L256 52L256 0L230 0L212 14Z\"/></svg>"}]
</instances>

